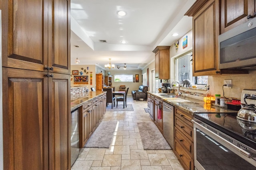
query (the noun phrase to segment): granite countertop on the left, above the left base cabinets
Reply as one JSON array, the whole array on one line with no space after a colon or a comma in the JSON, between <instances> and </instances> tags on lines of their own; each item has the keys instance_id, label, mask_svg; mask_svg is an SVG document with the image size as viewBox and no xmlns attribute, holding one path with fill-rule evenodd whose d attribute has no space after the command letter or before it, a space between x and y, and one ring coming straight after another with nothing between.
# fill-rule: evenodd
<instances>
[{"instance_id":1,"label":"granite countertop on the left, above the left base cabinets","mask_svg":"<svg viewBox=\"0 0 256 170\"><path fill-rule=\"evenodd\" d=\"M72 95L72 99L71 99L71 111L73 111L74 109L82 106L85 102L89 102L94 100L94 98L96 98L97 96L99 96L100 94L104 94L106 92L84 92L81 93L79 95Z\"/></svg>"}]
</instances>

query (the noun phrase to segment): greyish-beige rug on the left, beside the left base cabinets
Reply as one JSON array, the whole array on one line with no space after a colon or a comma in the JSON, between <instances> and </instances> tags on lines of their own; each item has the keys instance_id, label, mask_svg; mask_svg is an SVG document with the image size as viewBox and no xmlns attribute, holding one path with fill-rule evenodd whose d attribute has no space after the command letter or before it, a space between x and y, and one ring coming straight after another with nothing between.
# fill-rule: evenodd
<instances>
[{"instance_id":1,"label":"greyish-beige rug on the left, beside the left base cabinets","mask_svg":"<svg viewBox=\"0 0 256 170\"><path fill-rule=\"evenodd\" d=\"M84 145L85 148L109 148L117 121L102 121Z\"/></svg>"}]
</instances>

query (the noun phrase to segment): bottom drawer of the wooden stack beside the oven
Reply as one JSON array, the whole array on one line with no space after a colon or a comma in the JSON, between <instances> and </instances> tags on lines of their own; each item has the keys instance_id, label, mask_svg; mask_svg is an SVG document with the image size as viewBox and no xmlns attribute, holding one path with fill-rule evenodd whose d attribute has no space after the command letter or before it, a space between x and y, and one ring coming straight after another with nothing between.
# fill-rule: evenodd
<instances>
[{"instance_id":1,"label":"bottom drawer of the wooden stack beside the oven","mask_svg":"<svg viewBox=\"0 0 256 170\"><path fill-rule=\"evenodd\" d=\"M176 156L180 159L181 163L183 164L185 169L193 170L194 163L192 158L186 153L186 151L182 148L180 143L177 140L174 140L174 148Z\"/></svg>"}]
</instances>

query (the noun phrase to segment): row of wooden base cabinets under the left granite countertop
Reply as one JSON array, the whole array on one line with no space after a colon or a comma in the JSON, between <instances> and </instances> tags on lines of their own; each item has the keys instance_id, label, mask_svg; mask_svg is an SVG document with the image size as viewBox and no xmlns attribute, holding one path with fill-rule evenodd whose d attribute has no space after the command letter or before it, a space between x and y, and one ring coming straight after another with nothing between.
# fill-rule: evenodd
<instances>
[{"instance_id":1,"label":"row of wooden base cabinets under the left granite countertop","mask_svg":"<svg viewBox=\"0 0 256 170\"><path fill-rule=\"evenodd\" d=\"M106 113L106 94L85 102L79 109L79 147L83 148Z\"/></svg>"}]
</instances>

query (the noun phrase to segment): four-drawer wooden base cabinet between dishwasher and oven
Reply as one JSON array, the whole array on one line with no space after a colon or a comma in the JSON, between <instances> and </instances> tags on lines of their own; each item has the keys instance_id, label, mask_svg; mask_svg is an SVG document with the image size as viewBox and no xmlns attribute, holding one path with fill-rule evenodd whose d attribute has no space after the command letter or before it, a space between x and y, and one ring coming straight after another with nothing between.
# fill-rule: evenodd
<instances>
[{"instance_id":1,"label":"four-drawer wooden base cabinet between dishwasher and oven","mask_svg":"<svg viewBox=\"0 0 256 170\"><path fill-rule=\"evenodd\" d=\"M175 108L174 113L174 154L186 170L194 169L193 119L185 111Z\"/></svg>"}]
</instances>

